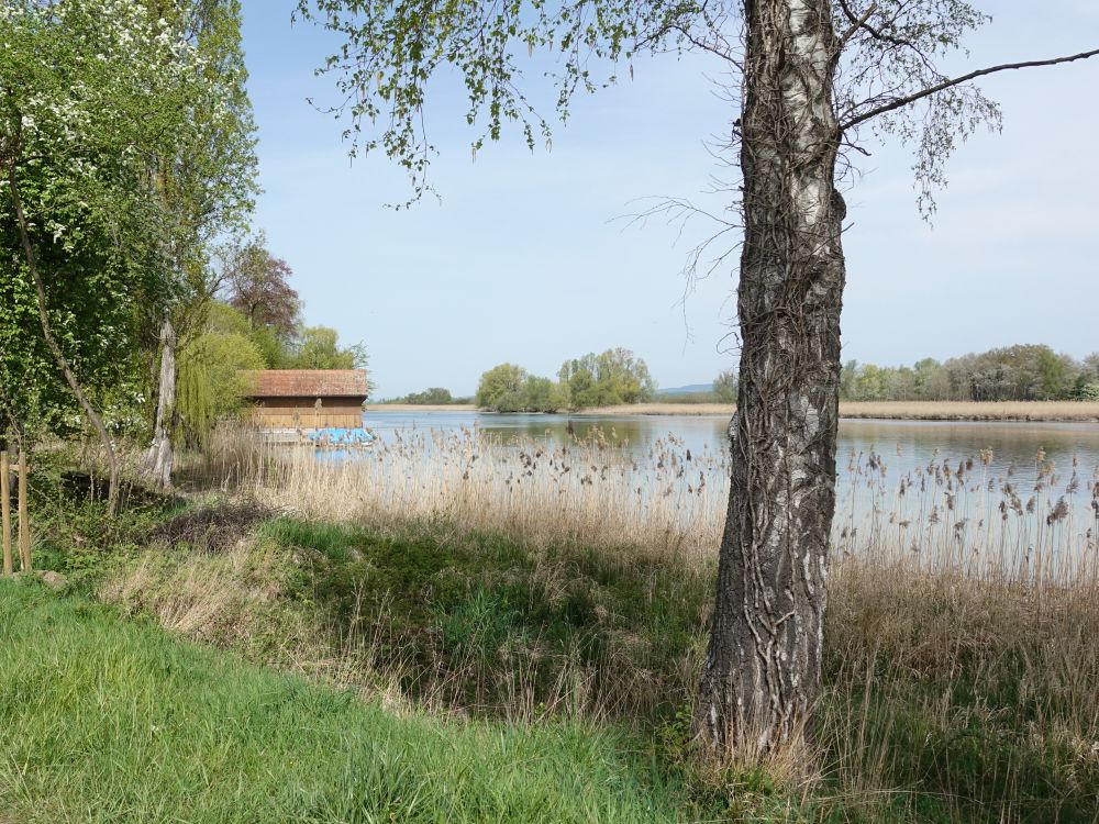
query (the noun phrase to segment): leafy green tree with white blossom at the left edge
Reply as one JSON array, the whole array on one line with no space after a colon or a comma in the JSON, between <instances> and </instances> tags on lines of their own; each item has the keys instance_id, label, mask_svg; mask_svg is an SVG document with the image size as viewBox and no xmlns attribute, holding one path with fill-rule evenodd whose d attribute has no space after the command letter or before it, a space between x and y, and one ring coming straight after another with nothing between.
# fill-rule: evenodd
<instances>
[{"instance_id":1,"label":"leafy green tree with white blossom at the left edge","mask_svg":"<svg viewBox=\"0 0 1099 824\"><path fill-rule=\"evenodd\" d=\"M137 309L180 288L156 164L195 145L203 60L129 0L13 0L0 41L0 391L18 426L27 398L58 398L59 374L102 441L113 510L118 458L93 399L134 363Z\"/></svg>"}]
</instances>

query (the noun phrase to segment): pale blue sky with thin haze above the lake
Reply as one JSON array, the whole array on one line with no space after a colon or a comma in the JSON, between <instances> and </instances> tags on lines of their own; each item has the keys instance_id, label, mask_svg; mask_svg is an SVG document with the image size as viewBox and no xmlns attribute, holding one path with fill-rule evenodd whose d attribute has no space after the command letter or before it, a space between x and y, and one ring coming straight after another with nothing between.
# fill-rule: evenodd
<instances>
[{"instance_id":1,"label":"pale blue sky with thin haze above the lake","mask_svg":"<svg viewBox=\"0 0 1099 824\"><path fill-rule=\"evenodd\" d=\"M993 22L969 38L957 74L1099 43L1099 0L978 4ZM637 58L632 81L574 101L548 151L531 153L511 130L476 158L463 89L443 78L426 110L440 199L395 211L386 204L408 199L407 179L384 156L348 159L346 122L319 111L336 100L334 78L314 76L338 41L291 25L295 5L244 0L264 189L254 224L292 268L307 323L366 345L375 397L469 394L503 361L553 376L566 358L617 346L663 387L735 367L736 255L688 292L684 264L710 226L629 220L659 196L723 208L707 194L720 174L708 144L735 116L715 93L721 66ZM547 91L537 60L536 93ZM958 147L932 225L917 210L911 155L868 146L845 192L844 360L1014 343L1099 350L1099 58L981 88L1003 131Z\"/></svg>"}]
</instances>

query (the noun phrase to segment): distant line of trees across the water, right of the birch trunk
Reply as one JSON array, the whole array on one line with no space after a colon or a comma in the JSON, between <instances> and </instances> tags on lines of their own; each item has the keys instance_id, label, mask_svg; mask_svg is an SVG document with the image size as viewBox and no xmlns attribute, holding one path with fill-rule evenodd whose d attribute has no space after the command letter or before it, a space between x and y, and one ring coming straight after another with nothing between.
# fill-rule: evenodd
<instances>
[{"instance_id":1,"label":"distant line of trees across the water, right of the birch trunk","mask_svg":"<svg viewBox=\"0 0 1099 824\"><path fill-rule=\"evenodd\" d=\"M1099 353L1083 360L1040 344L1020 344L940 363L876 366L848 360L840 375L846 401L1099 400Z\"/></svg>"}]
</instances>

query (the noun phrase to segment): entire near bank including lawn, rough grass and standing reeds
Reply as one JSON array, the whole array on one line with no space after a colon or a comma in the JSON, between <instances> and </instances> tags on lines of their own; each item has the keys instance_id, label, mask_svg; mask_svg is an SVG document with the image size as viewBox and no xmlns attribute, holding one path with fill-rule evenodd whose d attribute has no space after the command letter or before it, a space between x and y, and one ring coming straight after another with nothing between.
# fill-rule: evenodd
<instances>
[{"instance_id":1,"label":"entire near bank including lawn, rough grass and standing reeds","mask_svg":"<svg viewBox=\"0 0 1099 824\"><path fill-rule=\"evenodd\" d=\"M1094 470L1036 456L1033 478L993 477L983 453L892 480L852 457L811 751L745 775L704 768L689 737L720 456L674 439L623 456L613 437L501 448L418 432L338 463L226 437L181 472L186 494L135 497L113 522L41 456L35 556L77 594L0 590L0 671L19 673L0 686L16 754L0 759L0 809L1099 821L1099 523L1062 500ZM235 789L201 806L213 779ZM267 806L253 781L278 784Z\"/></svg>"}]
</instances>

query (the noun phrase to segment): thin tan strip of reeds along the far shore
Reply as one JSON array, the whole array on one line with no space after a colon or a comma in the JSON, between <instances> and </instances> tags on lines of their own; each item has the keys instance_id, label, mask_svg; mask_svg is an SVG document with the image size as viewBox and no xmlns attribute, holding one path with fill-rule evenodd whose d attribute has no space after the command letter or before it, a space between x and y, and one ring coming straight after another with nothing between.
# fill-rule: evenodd
<instances>
[{"instance_id":1,"label":"thin tan strip of reeds along the far shore","mask_svg":"<svg viewBox=\"0 0 1099 824\"><path fill-rule=\"evenodd\" d=\"M418 405L378 403L371 412L468 413L478 412L471 403ZM574 417L610 415L722 416L730 417L731 403L631 403L599 407L570 414ZM495 413L486 413L495 414ZM1099 401L843 401L840 417L879 421L955 421L955 422L1031 422L1099 423Z\"/></svg>"}]
</instances>

